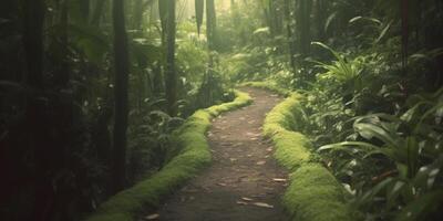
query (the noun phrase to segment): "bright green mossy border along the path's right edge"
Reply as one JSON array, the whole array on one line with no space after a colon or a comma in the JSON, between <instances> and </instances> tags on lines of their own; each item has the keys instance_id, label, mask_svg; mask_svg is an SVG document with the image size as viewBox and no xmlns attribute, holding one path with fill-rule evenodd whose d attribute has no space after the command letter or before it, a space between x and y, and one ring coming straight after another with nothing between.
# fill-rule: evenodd
<instances>
[{"instance_id":1,"label":"bright green mossy border along the path's right edge","mask_svg":"<svg viewBox=\"0 0 443 221\"><path fill-rule=\"evenodd\" d=\"M264 135L276 147L275 158L291 171L284 204L297 221L353 220L343 188L324 167L315 162L310 140L295 131L305 123L300 99L299 94L291 94L274 107L264 124Z\"/></svg>"}]
</instances>

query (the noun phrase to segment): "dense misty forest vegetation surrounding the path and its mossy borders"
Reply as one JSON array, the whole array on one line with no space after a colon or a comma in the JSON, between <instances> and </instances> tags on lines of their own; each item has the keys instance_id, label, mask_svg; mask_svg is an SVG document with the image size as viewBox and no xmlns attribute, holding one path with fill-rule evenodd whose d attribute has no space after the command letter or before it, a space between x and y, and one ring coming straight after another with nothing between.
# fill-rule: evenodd
<instances>
[{"instance_id":1,"label":"dense misty forest vegetation surrounding the path and its mossy borders","mask_svg":"<svg viewBox=\"0 0 443 221\"><path fill-rule=\"evenodd\" d=\"M288 128L356 219L442 219L441 0L6 0L0 12L1 220L83 219L161 170L195 110L250 81L301 95Z\"/></svg>"}]
</instances>

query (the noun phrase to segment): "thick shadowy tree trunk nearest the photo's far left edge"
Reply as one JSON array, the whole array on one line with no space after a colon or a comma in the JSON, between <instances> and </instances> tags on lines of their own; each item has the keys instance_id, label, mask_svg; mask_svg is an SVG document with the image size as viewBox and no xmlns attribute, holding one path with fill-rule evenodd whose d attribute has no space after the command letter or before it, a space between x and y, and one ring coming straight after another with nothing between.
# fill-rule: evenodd
<instances>
[{"instance_id":1,"label":"thick shadowy tree trunk nearest the photo's far left edge","mask_svg":"<svg viewBox=\"0 0 443 221\"><path fill-rule=\"evenodd\" d=\"M23 45L27 57L27 84L30 88L41 93L43 90L43 24L45 15L44 0L27 1L23 4L24 25ZM39 96L39 95L35 95ZM43 104L31 96L27 104L27 124L29 125L25 139L29 149L33 151L35 164L35 200L33 220L49 220L53 207L54 192L48 177L48 154L50 145L47 144L47 125Z\"/></svg>"}]
</instances>

